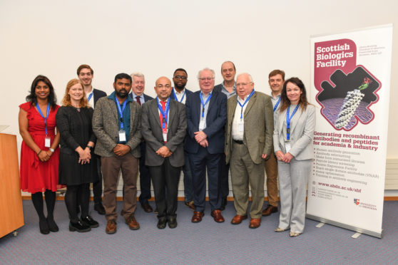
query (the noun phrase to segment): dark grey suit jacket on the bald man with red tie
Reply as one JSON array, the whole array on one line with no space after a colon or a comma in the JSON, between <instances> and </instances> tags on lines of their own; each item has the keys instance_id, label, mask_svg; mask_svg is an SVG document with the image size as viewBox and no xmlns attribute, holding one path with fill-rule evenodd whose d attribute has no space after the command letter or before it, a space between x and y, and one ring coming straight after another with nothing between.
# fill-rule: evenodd
<instances>
[{"instance_id":1,"label":"dark grey suit jacket on the bald man with red tie","mask_svg":"<svg viewBox=\"0 0 398 265\"><path fill-rule=\"evenodd\" d=\"M142 134L146 141L145 164L148 166L159 166L164 162L164 158L156 154L156 151L165 145L173 155L169 161L173 167L184 165L184 138L187 129L185 106L176 100L170 100L168 110L168 132L167 142L163 141L162 127L160 125L160 115L158 101L156 99L143 104Z\"/></svg>"}]
</instances>

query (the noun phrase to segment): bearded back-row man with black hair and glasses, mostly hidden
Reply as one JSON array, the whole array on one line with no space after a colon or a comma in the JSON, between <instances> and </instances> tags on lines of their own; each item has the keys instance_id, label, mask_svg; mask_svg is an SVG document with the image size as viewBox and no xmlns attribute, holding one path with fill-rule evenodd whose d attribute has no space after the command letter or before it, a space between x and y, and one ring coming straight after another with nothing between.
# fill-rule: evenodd
<instances>
[{"instance_id":1,"label":"bearded back-row man with black hair and glasses, mostly hidden","mask_svg":"<svg viewBox=\"0 0 398 265\"><path fill-rule=\"evenodd\" d=\"M170 98L177 100L180 103L185 104L188 96L192 94L192 91L185 88L188 82L188 73L183 68L178 68L173 73L174 88L171 92ZM184 197L185 205L190 209L195 209L193 203L193 183L192 183L192 172L190 170L190 162L188 152L184 152L185 164L183 167L184 172Z\"/></svg>"}]
</instances>

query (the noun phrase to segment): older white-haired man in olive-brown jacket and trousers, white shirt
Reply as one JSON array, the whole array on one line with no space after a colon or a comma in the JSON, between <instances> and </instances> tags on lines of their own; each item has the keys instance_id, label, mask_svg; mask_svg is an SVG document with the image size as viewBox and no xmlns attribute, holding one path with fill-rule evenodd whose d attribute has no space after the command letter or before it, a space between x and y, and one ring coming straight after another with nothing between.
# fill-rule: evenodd
<instances>
[{"instance_id":1,"label":"older white-haired man in olive-brown jacket and trousers, white shirt","mask_svg":"<svg viewBox=\"0 0 398 265\"><path fill-rule=\"evenodd\" d=\"M226 161L230 162L236 215L232 224L248 218L249 184L252 191L250 228L260 227L264 202L264 161L272 150L274 119L270 96L254 90L248 73L238 75L238 96L228 100Z\"/></svg>"}]
</instances>

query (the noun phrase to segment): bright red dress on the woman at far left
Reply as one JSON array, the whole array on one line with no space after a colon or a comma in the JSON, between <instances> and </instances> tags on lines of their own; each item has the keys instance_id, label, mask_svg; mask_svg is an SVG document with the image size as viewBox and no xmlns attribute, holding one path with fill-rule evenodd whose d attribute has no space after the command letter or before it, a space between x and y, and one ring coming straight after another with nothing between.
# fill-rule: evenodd
<instances>
[{"instance_id":1,"label":"bright red dress on the woman at far left","mask_svg":"<svg viewBox=\"0 0 398 265\"><path fill-rule=\"evenodd\" d=\"M28 131L33 138L36 145L41 150L47 151L49 147L44 147L44 140L46 138L46 128L44 125L44 118L41 117L39 112L31 105L30 102L19 105L19 108L27 112L28 118ZM50 109L49 118L47 118L47 133L51 137L51 144L55 137L56 128L56 112L59 106L56 105L55 110ZM45 114L45 113L44 113ZM58 185L58 164L59 164L59 148L56 148L50 160L41 162L38 155L34 150L22 141L21 145L21 189L24 192L45 192L50 189L56 192Z\"/></svg>"}]
</instances>

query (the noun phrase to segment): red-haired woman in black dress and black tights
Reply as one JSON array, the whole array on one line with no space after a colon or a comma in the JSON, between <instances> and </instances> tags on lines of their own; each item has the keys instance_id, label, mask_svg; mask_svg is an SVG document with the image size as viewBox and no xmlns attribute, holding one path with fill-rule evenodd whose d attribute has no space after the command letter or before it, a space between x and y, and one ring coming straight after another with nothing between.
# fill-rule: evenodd
<instances>
[{"instance_id":1,"label":"red-haired woman in black dress and black tights","mask_svg":"<svg viewBox=\"0 0 398 265\"><path fill-rule=\"evenodd\" d=\"M56 114L56 125L61 134L59 183L66 185L65 204L71 219L71 232L88 232L98 227L98 222L88 215L90 183L98 178L96 160L91 160L91 150L96 142L91 127L92 118L93 108L88 105L81 81L70 80L62 107ZM78 205L81 206L80 219Z\"/></svg>"}]
</instances>

